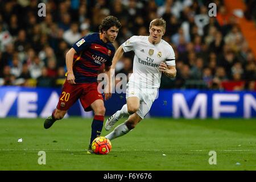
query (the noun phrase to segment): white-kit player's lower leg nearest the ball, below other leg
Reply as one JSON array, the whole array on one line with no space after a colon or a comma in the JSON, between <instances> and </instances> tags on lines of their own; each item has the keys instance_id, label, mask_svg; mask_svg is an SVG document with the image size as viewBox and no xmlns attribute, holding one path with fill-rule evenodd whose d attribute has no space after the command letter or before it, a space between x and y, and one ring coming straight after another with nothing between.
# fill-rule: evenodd
<instances>
[{"instance_id":1,"label":"white-kit player's lower leg nearest the ball, below other leg","mask_svg":"<svg viewBox=\"0 0 256 182\"><path fill-rule=\"evenodd\" d=\"M129 118L125 122L123 122L121 125L118 125L117 127L115 127L115 129L111 133L106 135L106 138L112 140L112 139L121 137L121 136L129 133L129 131L133 130L134 127L141 120L142 120L142 118L137 113L130 115Z\"/></svg>"}]
</instances>

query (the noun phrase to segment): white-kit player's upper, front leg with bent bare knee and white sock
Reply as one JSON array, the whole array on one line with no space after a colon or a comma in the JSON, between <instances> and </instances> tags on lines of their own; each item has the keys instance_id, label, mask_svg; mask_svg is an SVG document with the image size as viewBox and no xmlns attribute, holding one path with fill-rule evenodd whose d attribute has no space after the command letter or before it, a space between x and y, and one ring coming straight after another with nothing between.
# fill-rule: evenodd
<instances>
[{"instance_id":1,"label":"white-kit player's upper, front leg with bent bare knee and white sock","mask_svg":"<svg viewBox=\"0 0 256 182\"><path fill-rule=\"evenodd\" d=\"M117 123L118 119L124 116L134 114L139 109L139 98L138 97L128 97L127 104L123 105L121 110L118 110L113 114L105 123L106 131L112 129L112 127Z\"/></svg>"}]
</instances>

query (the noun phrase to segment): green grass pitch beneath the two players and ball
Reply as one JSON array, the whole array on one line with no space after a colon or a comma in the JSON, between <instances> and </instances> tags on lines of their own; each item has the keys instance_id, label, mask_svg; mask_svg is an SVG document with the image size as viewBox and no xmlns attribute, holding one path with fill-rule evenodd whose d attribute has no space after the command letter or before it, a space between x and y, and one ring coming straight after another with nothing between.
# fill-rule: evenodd
<instances>
[{"instance_id":1,"label":"green grass pitch beneath the two players and ball","mask_svg":"<svg viewBox=\"0 0 256 182\"><path fill-rule=\"evenodd\" d=\"M0 170L256 170L253 119L146 118L112 140L108 155L86 154L92 119L71 117L48 130L43 122L0 119ZM39 151L46 152L45 165L38 164ZM210 151L217 164L209 164Z\"/></svg>"}]
</instances>

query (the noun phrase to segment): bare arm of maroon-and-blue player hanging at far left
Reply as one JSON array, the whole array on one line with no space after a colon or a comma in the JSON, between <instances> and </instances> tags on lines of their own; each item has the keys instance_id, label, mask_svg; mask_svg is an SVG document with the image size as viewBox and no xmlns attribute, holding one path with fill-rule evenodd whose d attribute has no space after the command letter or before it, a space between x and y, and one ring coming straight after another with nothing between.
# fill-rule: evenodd
<instances>
[{"instance_id":1,"label":"bare arm of maroon-and-blue player hanging at far left","mask_svg":"<svg viewBox=\"0 0 256 182\"><path fill-rule=\"evenodd\" d=\"M75 82L75 76L73 73L73 57L76 53L76 50L74 48L69 49L69 51L66 54L66 65L67 65L67 81L70 84L76 84Z\"/></svg>"}]
</instances>

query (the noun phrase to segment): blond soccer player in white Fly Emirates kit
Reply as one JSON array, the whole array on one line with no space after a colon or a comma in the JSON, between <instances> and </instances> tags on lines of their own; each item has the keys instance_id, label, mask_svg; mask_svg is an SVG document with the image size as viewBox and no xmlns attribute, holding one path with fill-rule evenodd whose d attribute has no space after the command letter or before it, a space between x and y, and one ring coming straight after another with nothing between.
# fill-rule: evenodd
<instances>
[{"instance_id":1,"label":"blond soccer player in white Fly Emirates kit","mask_svg":"<svg viewBox=\"0 0 256 182\"><path fill-rule=\"evenodd\" d=\"M149 36L132 36L117 49L113 57L110 69L112 71L123 52L135 53L133 74L126 89L127 104L106 121L106 131L112 129L123 116L129 115L129 118L105 136L110 140L127 134L145 117L158 94L162 73L172 78L176 76L174 50L170 44L162 40L166 32L166 21L162 18L152 20L149 32ZM110 79L110 71L107 74ZM108 88L110 87L109 84ZM106 100L110 97L111 93L105 93Z\"/></svg>"}]
</instances>

